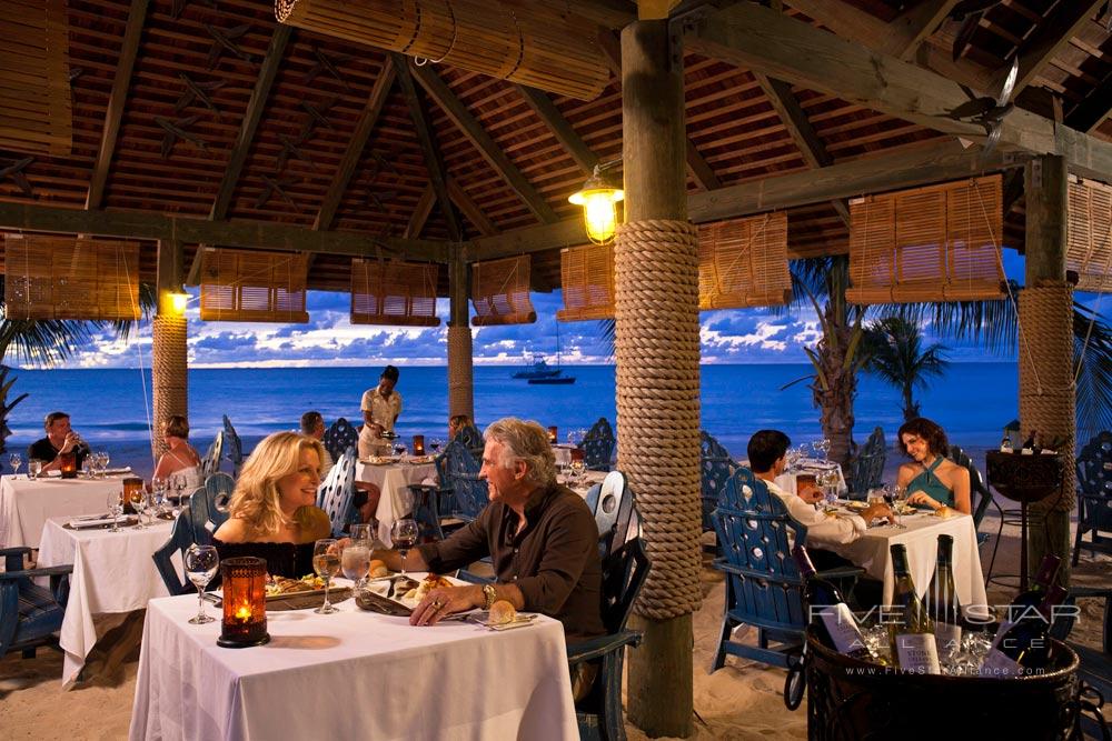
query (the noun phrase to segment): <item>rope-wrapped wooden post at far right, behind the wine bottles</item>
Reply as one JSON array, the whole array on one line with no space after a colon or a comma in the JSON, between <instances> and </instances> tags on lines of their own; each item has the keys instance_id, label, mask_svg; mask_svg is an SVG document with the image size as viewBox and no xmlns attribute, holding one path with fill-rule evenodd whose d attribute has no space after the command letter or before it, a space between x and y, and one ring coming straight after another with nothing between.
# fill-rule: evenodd
<instances>
[{"instance_id":1,"label":"rope-wrapped wooden post at far right, behind the wine bottles","mask_svg":"<svg viewBox=\"0 0 1112 741\"><path fill-rule=\"evenodd\" d=\"M1076 503L1074 447L1076 398L1073 385L1073 288L1065 280L1069 170L1062 157L1027 163L1026 286L1020 293L1020 421L1022 433L1036 430L1045 442L1061 437L1065 484L1027 508L1027 571L1046 553L1062 559L1058 579L1070 583L1070 513Z\"/></svg>"}]
</instances>

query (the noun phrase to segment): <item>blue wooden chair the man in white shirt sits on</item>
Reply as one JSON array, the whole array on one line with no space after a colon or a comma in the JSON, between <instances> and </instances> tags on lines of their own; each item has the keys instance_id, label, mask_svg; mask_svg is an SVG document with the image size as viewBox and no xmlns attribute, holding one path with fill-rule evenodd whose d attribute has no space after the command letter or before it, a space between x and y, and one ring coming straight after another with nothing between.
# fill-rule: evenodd
<instances>
[{"instance_id":1,"label":"blue wooden chair the man in white shirt sits on","mask_svg":"<svg viewBox=\"0 0 1112 741\"><path fill-rule=\"evenodd\" d=\"M784 502L747 468L738 468L727 479L714 524L723 553L714 567L726 574L726 602L711 671L725 664L727 653L786 669L790 657L802 650L807 625L803 581L791 553L792 542L806 542L807 529L788 515ZM846 568L820 573L844 581L864 571ZM757 629L757 645L732 640L734 628L742 623ZM771 641L781 645L770 648Z\"/></svg>"}]
</instances>

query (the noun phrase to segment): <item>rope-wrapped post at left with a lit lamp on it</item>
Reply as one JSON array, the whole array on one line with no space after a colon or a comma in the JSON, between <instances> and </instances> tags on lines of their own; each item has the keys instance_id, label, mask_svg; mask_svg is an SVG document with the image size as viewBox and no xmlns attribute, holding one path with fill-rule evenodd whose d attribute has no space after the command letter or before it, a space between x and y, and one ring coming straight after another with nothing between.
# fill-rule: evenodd
<instances>
[{"instance_id":1,"label":"rope-wrapped post at left with a lit lamp on it","mask_svg":"<svg viewBox=\"0 0 1112 741\"><path fill-rule=\"evenodd\" d=\"M166 452L162 423L172 414L189 415L186 360L186 314L173 308L170 294L181 290L182 248L177 240L158 243L158 313L151 327L151 385L155 395L155 435L151 453Z\"/></svg>"}]
</instances>

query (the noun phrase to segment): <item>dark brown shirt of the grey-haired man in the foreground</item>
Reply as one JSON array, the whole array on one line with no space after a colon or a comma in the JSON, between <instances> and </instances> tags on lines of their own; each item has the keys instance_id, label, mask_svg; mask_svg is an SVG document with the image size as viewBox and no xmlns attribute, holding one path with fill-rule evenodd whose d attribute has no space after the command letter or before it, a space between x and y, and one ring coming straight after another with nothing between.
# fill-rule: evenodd
<instances>
[{"instance_id":1,"label":"dark brown shirt of the grey-haired man in the foreground","mask_svg":"<svg viewBox=\"0 0 1112 741\"><path fill-rule=\"evenodd\" d=\"M517 584L526 610L564 623L569 642L604 634L598 529L587 504L553 483L533 492L525 520L525 530L513 534L517 513L493 502L446 540L418 548L436 573L490 555L498 581Z\"/></svg>"}]
</instances>

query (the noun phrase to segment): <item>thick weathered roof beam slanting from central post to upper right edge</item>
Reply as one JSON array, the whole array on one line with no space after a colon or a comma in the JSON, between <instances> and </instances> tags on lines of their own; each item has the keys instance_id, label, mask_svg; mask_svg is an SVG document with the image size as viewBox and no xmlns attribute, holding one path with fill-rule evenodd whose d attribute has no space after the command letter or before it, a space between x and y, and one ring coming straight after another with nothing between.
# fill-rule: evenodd
<instances>
[{"instance_id":1,"label":"thick weathered roof beam slanting from central post to upper right edge","mask_svg":"<svg viewBox=\"0 0 1112 741\"><path fill-rule=\"evenodd\" d=\"M759 6L743 3L713 13L687 36L687 43L714 59L870 110L971 141L986 139L981 126L946 116L969 100L955 81ZM1007 113L1000 146L1059 154L1080 174L1112 178L1112 143L1029 111Z\"/></svg>"}]
</instances>

